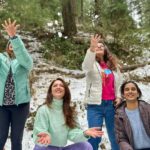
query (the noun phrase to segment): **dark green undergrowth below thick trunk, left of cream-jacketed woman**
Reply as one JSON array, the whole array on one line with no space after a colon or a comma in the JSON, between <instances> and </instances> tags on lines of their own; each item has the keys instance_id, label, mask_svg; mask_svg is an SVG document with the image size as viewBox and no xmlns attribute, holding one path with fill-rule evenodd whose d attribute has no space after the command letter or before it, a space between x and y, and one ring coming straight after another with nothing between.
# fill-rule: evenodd
<instances>
[{"instance_id":1,"label":"dark green undergrowth below thick trunk, left of cream-jacketed woman","mask_svg":"<svg viewBox=\"0 0 150 150\"><path fill-rule=\"evenodd\" d=\"M87 43L76 44L72 38L54 36L44 41L43 44L46 48L44 56L47 59L70 69L81 69L84 50L88 48Z\"/></svg>"}]
</instances>

